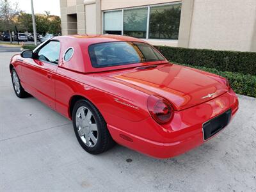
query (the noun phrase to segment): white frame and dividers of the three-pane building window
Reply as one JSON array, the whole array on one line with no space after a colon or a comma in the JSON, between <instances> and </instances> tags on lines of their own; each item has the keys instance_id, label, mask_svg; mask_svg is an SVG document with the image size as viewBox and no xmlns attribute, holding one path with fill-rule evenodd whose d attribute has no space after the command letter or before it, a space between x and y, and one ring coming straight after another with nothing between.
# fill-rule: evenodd
<instances>
[{"instance_id":1,"label":"white frame and dividers of the three-pane building window","mask_svg":"<svg viewBox=\"0 0 256 192\"><path fill-rule=\"evenodd\" d=\"M136 10L140 8L147 8L147 31L146 31L146 38L140 38L142 40L157 40L157 41L168 41L168 42L177 42L178 39L160 39L160 38L148 38L149 37L149 24L150 24L150 8L152 7L157 7L157 6L165 6L165 5L173 5L173 4L182 4L182 1L175 1L171 3L160 3L160 4L150 4L150 5L145 5L145 6L134 6L131 8L120 8L120 9L115 9L115 10L105 10L102 12L102 34L107 34L104 33L104 13L106 12L122 12L122 35L124 35L124 10ZM180 16L181 17L181 16Z\"/></svg>"}]
</instances>

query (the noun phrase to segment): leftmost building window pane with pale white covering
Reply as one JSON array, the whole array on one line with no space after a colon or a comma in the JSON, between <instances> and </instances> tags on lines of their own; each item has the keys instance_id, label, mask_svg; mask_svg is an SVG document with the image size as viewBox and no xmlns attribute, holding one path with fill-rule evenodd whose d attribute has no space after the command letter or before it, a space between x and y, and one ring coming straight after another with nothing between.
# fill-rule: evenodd
<instances>
[{"instance_id":1,"label":"leftmost building window pane with pale white covering","mask_svg":"<svg viewBox=\"0 0 256 192\"><path fill-rule=\"evenodd\" d=\"M122 11L104 13L104 33L122 35Z\"/></svg>"}]
</instances>

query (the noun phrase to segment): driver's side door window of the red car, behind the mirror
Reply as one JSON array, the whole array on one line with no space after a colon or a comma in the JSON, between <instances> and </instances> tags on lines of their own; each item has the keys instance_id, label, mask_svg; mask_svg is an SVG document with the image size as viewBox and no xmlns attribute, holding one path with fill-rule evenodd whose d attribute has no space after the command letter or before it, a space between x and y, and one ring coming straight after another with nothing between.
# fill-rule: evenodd
<instances>
[{"instance_id":1,"label":"driver's side door window of the red car, behind the mirror","mask_svg":"<svg viewBox=\"0 0 256 192\"><path fill-rule=\"evenodd\" d=\"M60 56L60 42L50 41L48 44L44 45L38 53L37 59L40 61L47 61L54 64L58 64Z\"/></svg>"}]
</instances>

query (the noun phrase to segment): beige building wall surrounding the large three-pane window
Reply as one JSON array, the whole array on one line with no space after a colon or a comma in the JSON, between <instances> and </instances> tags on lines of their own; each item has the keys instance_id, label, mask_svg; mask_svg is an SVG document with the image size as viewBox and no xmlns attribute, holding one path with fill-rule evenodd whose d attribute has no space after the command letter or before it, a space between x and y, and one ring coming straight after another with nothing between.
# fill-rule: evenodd
<instances>
[{"instance_id":1,"label":"beige building wall surrounding the large three-pane window","mask_svg":"<svg viewBox=\"0 0 256 192\"><path fill-rule=\"evenodd\" d=\"M173 3L177 0L60 0L63 35L102 33L104 11ZM70 15L76 14L77 28ZM182 0L179 40L147 40L153 45L256 52L255 0Z\"/></svg>"}]
</instances>

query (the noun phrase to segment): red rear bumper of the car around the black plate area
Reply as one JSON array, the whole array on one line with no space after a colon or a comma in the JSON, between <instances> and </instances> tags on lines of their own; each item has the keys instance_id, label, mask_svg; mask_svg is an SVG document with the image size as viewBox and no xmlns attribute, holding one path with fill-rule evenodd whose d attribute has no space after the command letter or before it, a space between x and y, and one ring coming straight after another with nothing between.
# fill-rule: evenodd
<instances>
[{"instance_id":1,"label":"red rear bumper of the car around the black plate area","mask_svg":"<svg viewBox=\"0 0 256 192\"><path fill-rule=\"evenodd\" d=\"M124 122L123 126L132 127L132 132L122 129L122 126L117 128L108 125L108 128L113 139L120 145L148 156L168 158L202 145L205 142L202 125L228 109L232 111L232 120L238 109L238 99L232 90L204 104L175 111L172 122L164 126L156 124L150 117L136 124Z\"/></svg>"}]
</instances>

